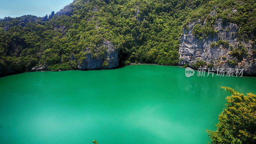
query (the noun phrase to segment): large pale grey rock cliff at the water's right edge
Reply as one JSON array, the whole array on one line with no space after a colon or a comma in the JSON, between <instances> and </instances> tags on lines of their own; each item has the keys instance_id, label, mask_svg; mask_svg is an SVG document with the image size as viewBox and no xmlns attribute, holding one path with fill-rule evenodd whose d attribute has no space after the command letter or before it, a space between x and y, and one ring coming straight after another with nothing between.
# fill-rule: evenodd
<instances>
[{"instance_id":1,"label":"large pale grey rock cliff at the water's right edge","mask_svg":"<svg viewBox=\"0 0 256 144\"><path fill-rule=\"evenodd\" d=\"M214 16L214 12L210 14ZM196 24L204 26L205 21L191 22L187 28L183 28L179 49L180 65L188 64L192 68L199 68L195 63L201 61L204 65L200 65L200 68L224 68L225 71L229 68L244 68L245 75L256 75L256 56L253 54L255 47L250 41L238 39L239 27L236 24L216 20L214 29L217 34L208 34L201 38L192 34ZM243 54L234 54L235 50L241 53L241 48L245 51Z\"/></svg>"}]
</instances>

